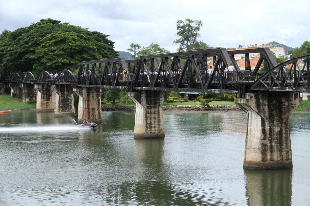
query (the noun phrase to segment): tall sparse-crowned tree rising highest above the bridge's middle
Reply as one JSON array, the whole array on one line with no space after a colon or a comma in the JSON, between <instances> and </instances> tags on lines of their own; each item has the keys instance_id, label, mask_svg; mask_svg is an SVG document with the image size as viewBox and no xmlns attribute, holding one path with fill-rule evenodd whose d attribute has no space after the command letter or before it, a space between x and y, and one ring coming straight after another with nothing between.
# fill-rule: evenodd
<instances>
[{"instance_id":1,"label":"tall sparse-crowned tree rising highest above the bridge's middle","mask_svg":"<svg viewBox=\"0 0 310 206\"><path fill-rule=\"evenodd\" d=\"M193 49L207 49L207 45L203 41L198 41L200 37L200 28L202 27L201 20L185 19L182 21L178 19L176 22L176 35L179 39L173 41L173 44L179 44L179 52L188 51Z\"/></svg>"}]
</instances>

